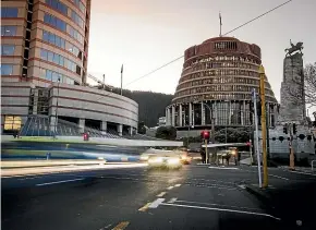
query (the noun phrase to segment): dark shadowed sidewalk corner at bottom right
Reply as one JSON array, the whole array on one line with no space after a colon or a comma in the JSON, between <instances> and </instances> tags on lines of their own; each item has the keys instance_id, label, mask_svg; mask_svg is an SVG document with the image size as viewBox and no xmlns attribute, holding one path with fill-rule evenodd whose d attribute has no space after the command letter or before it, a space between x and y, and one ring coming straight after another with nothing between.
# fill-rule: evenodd
<instances>
[{"instance_id":1,"label":"dark shadowed sidewalk corner at bottom right","mask_svg":"<svg viewBox=\"0 0 316 230\"><path fill-rule=\"evenodd\" d=\"M267 189L250 183L245 189L260 202L263 208L281 218L290 229L315 229L316 181L293 181L285 186L272 184Z\"/></svg>"}]
</instances>

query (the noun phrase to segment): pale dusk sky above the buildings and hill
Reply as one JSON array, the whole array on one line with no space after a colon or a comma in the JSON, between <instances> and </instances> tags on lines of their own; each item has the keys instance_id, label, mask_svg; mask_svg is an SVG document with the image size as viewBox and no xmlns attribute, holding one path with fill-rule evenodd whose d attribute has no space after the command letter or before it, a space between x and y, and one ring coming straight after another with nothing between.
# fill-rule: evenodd
<instances>
[{"instance_id":1,"label":"pale dusk sky above the buildings and hill","mask_svg":"<svg viewBox=\"0 0 316 230\"><path fill-rule=\"evenodd\" d=\"M88 72L106 83L174 94L183 58L132 84L134 80L184 55L191 46L258 16L287 0L93 0ZM316 62L316 0L292 0L229 34L262 48L262 60L280 99L284 49L304 43L304 63ZM314 109L315 110L315 109Z\"/></svg>"}]
</instances>

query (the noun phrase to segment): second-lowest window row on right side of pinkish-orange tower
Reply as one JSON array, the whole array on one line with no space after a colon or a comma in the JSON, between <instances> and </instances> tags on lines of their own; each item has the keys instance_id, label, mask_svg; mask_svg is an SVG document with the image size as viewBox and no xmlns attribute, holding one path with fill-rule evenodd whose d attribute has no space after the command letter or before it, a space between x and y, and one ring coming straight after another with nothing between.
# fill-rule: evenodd
<instances>
[{"instance_id":1,"label":"second-lowest window row on right side of pinkish-orange tower","mask_svg":"<svg viewBox=\"0 0 316 230\"><path fill-rule=\"evenodd\" d=\"M56 34L42 31L42 40L50 43L54 46L58 46L62 49L65 49L75 55L77 58L82 59L82 51L80 51L80 49L76 46L72 45L71 43L66 41L65 39Z\"/></svg>"}]
</instances>

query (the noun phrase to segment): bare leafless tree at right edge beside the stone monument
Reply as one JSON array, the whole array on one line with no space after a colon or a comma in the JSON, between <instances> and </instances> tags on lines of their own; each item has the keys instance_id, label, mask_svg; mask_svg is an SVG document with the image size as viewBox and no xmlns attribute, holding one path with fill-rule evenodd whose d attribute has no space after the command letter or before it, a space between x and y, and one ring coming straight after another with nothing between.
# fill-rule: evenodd
<instances>
[{"instance_id":1,"label":"bare leafless tree at right edge beside the stone monument","mask_svg":"<svg viewBox=\"0 0 316 230\"><path fill-rule=\"evenodd\" d=\"M296 90L289 88L293 102L301 105L305 100L305 104L316 106L316 62L314 64L306 64L301 77L304 81L293 80L297 84Z\"/></svg>"}]
</instances>

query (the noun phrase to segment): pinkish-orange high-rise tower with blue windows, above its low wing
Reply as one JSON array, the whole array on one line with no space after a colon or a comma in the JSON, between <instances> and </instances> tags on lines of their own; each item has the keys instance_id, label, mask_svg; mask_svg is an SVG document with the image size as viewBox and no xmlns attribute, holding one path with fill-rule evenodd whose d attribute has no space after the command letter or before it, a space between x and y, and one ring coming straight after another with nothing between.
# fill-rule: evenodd
<instances>
[{"instance_id":1,"label":"pinkish-orange high-rise tower with blue windows, above its low wing","mask_svg":"<svg viewBox=\"0 0 316 230\"><path fill-rule=\"evenodd\" d=\"M1 4L1 82L86 82L90 0Z\"/></svg>"}]
</instances>

